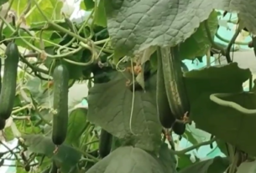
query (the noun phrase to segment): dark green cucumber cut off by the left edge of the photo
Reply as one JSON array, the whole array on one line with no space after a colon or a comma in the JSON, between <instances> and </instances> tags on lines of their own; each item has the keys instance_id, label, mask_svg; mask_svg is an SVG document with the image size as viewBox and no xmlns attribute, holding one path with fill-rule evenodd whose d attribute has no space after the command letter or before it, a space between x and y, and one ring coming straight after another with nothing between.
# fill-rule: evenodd
<instances>
[{"instance_id":1,"label":"dark green cucumber cut off by the left edge of the photo","mask_svg":"<svg viewBox=\"0 0 256 173\"><path fill-rule=\"evenodd\" d=\"M5 51L3 81L0 94L0 118L8 120L13 111L13 104L16 95L16 80L18 73L18 46L11 42Z\"/></svg>"}]
</instances>

